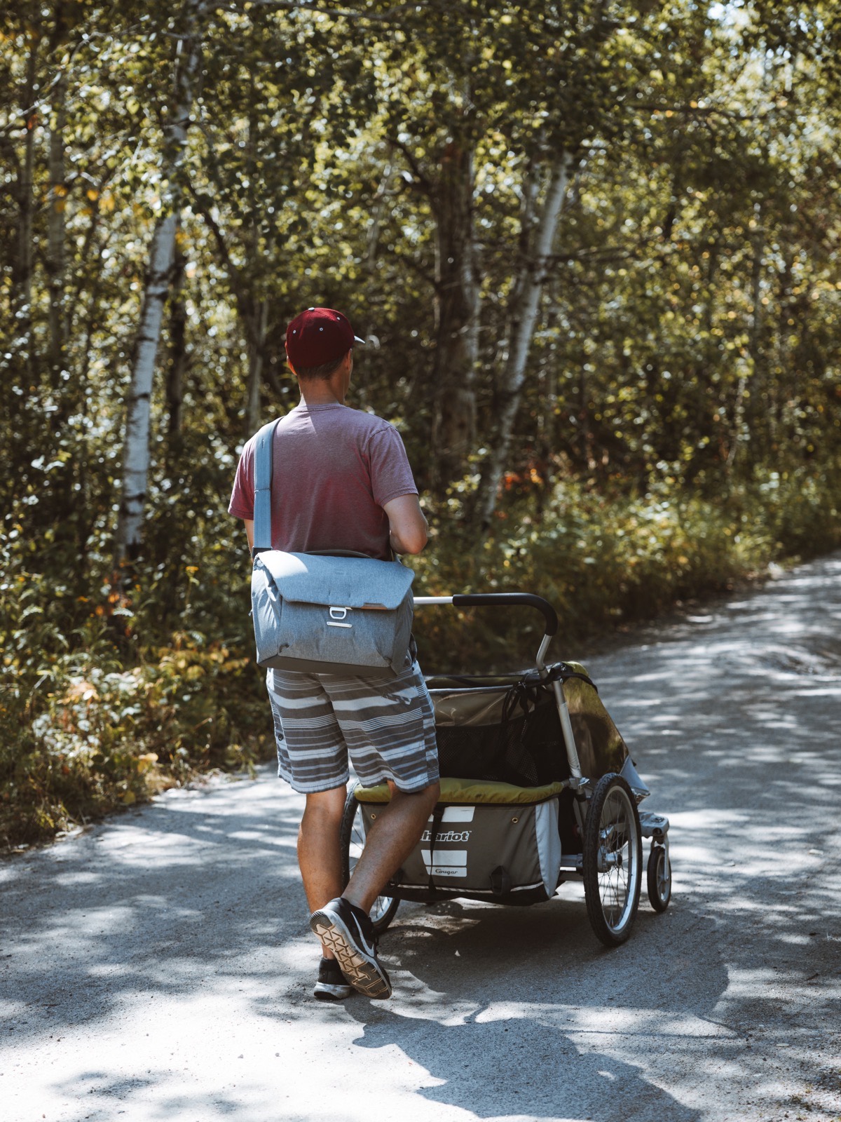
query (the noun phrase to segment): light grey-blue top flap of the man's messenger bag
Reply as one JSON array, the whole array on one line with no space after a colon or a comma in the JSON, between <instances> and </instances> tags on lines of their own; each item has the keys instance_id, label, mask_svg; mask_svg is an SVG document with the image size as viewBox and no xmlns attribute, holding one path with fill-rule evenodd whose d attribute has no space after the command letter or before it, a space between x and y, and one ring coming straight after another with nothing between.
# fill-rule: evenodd
<instances>
[{"instance_id":1,"label":"light grey-blue top flap of the man's messenger bag","mask_svg":"<svg viewBox=\"0 0 841 1122\"><path fill-rule=\"evenodd\" d=\"M403 604L415 579L412 569L399 561L377 561L375 558L267 550L258 553L257 565L268 570L285 600L344 608L394 611Z\"/></svg>"}]
</instances>

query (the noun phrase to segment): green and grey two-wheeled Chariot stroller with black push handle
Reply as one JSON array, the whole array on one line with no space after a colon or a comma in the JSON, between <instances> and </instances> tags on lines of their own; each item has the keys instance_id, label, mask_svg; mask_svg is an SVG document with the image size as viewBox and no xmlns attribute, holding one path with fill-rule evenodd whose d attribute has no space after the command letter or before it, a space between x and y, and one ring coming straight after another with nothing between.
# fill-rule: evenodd
<instances>
[{"instance_id":1,"label":"green and grey two-wheeled Chariot stroller with black push handle","mask_svg":"<svg viewBox=\"0 0 841 1122\"><path fill-rule=\"evenodd\" d=\"M416 607L436 604L537 608L545 634L526 673L427 679L441 798L371 909L375 932L386 930L400 900L532 904L583 880L597 938L608 947L625 942L639 903L644 838L648 899L655 911L668 907L668 819L638 810L648 788L584 668L546 663L554 608L526 592L415 598ZM351 789L342 820L345 880L388 799L386 784Z\"/></svg>"}]
</instances>

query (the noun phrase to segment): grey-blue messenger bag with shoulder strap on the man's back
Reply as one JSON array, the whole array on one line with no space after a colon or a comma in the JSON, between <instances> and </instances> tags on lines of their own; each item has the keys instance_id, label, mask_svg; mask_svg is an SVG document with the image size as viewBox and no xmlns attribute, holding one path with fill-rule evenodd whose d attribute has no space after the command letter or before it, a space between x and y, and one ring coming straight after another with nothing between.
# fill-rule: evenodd
<instances>
[{"instance_id":1,"label":"grey-blue messenger bag with shoulder strap on the man's back","mask_svg":"<svg viewBox=\"0 0 841 1122\"><path fill-rule=\"evenodd\" d=\"M257 433L251 615L260 666L394 677L412 662L412 581L399 561L271 549L277 421Z\"/></svg>"}]
</instances>

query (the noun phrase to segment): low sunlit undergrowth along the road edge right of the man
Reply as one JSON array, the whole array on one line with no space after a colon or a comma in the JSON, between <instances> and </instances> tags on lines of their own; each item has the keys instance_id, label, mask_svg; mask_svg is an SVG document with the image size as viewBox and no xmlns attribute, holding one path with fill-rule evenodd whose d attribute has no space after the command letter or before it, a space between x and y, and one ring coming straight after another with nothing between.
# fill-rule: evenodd
<instances>
[{"instance_id":1,"label":"low sunlit undergrowth along the road edge right of the man","mask_svg":"<svg viewBox=\"0 0 841 1122\"><path fill-rule=\"evenodd\" d=\"M413 559L416 595L538 592L555 607L555 659L576 657L593 635L650 619L675 604L764 577L841 545L841 472L767 472L727 496L687 493L672 478L645 496L558 485L540 516L535 496L498 512L496 536L477 548L442 532ZM425 607L415 634L427 672L527 666L542 635L524 609Z\"/></svg>"}]
</instances>

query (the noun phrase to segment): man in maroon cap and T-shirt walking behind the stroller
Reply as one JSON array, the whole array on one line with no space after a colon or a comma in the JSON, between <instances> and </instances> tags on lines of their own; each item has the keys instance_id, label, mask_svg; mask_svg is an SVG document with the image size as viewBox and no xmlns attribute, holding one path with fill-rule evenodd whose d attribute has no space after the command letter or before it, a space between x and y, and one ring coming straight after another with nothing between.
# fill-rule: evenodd
<instances>
[{"instance_id":1,"label":"man in maroon cap and T-shirt walking behind the stroller","mask_svg":"<svg viewBox=\"0 0 841 1122\"><path fill-rule=\"evenodd\" d=\"M426 519L399 433L350 408L353 346L362 342L341 312L311 307L286 332L301 403L277 425L272 445L271 546L304 553L350 550L380 560L419 553ZM246 444L229 512L253 545L255 440ZM298 865L322 945L315 996L351 988L391 996L368 912L414 848L438 798L432 702L407 652L395 678L267 672L278 774L306 795ZM366 787L388 783L390 801L368 831L350 882L342 885L340 825L348 760Z\"/></svg>"}]
</instances>

